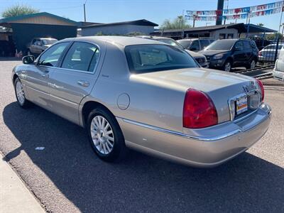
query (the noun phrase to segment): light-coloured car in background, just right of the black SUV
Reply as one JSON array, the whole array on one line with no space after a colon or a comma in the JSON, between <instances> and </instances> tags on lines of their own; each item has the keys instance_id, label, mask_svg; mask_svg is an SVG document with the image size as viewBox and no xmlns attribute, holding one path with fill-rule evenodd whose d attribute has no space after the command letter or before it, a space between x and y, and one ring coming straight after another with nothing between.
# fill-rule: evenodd
<instances>
[{"instance_id":1,"label":"light-coloured car in background, just right of the black SUV","mask_svg":"<svg viewBox=\"0 0 284 213\"><path fill-rule=\"evenodd\" d=\"M259 62L274 62L277 44L267 45L265 48L258 52ZM280 53L280 49L283 47L283 43L278 43L277 56Z\"/></svg>"}]
</instances>

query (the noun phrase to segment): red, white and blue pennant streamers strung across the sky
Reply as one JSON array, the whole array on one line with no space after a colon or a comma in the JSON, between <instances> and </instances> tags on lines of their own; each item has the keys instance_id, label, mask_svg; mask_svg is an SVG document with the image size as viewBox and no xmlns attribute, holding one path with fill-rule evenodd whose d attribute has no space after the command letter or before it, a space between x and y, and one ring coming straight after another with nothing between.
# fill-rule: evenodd
<instances>
[{"instance_id":1,"label":"red, white and blue pennant streamers strung across the sky","mask_svg":"<svg viewBox=\"0 0 284 213\"><path fill-rule=\"evenodd\" d=\"M187 20L196 21L216 21L217 16L222 16L222 19L246 19L256 16L268 16L275 13L280 13L284 8L284 1L277 1L270 4L262 4L258 6L248 6L237 9L224 9L217 11L187 11L185 18Z\"/></svg>"}]
</instances>

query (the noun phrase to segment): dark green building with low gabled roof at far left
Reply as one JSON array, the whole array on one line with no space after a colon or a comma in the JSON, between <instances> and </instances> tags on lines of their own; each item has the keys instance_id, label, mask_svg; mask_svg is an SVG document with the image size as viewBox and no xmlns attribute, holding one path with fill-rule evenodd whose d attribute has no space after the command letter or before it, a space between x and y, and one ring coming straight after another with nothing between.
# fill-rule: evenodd
<instances>
[{"instance_id":1,"label":"dark green building with low gabled roof at far left","mask_svg":"<svg viewBox=\"0 0 284 213\"><path fill-rule=\"evenodd\" d=\"M2 37L6 43L14 45L14 52L20 53L20 55L26 52L26 45L33 38L61 40L77 36L76 21L46 12L2 18L0 26L11 29L11 36ZM15 55L15 53L11 53L11 55Z\"/></svg>"}]
</instances>

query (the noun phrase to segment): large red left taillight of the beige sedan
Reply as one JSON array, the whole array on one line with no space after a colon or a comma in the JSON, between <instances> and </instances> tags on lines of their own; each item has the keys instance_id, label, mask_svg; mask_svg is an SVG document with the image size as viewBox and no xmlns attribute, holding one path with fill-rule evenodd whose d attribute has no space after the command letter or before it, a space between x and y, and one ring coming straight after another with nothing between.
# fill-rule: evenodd
<instances>
[{"instance_id":1,"label":"large red left taillight of the beige sedan","mask_svg":"<svg viewBox=\"0 0 284 213\"><path fill-rule=\"evenodd\" d=\"M183 127L203 128L218 124L217 110L212 100L195 89L188 89L183 104Z\"/></svg>"}]
</instances>

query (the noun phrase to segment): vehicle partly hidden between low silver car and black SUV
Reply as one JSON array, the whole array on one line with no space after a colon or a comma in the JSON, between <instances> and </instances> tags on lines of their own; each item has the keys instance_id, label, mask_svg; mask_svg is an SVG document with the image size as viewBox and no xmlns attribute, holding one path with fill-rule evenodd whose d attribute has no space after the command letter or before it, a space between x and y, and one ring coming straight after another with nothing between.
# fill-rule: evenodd
<instances>
[{"instance_id":1,"label":"vehicle partly hidden between low silver car and black SUV","mask_svg":"<svg viewBox=\"0 0 284 213\"><path fill-rule=\"evenodd\" d=\"M187 50L198 52L206 48L210 43L214 42L212 38L186 38L177 40L182 47Z\"/></svg>"}]
</instances>

